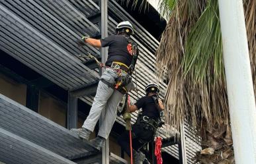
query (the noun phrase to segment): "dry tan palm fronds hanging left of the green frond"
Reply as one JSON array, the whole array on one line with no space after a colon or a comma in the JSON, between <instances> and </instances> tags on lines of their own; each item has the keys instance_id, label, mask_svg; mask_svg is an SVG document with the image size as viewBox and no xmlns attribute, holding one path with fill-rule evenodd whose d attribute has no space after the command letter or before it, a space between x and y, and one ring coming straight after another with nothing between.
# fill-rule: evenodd
<instances>
[{"instance_id":1,"label":"dry tan palm fronds hanging left of the green frond","mask_svg":"<svg viewBox=\"0 0 256 164\"><path fill-rule=\"evenodd\" d=\"M177 129L179 129L180 121L185 120L188 109L187 97L189 97L189 92L184 91L187 90L185 83L189 81L189 78L183 77L184 69L181 65L184 57L185 40L187 40L192 26L196 23L205 5L206 1L177 1L156 51L158 76L159 78L167 76L169 79L165 95L166 123ZM190 103L193 104L194 102ZM194 115L198 115L196 111Z\"/></svg>"}]
</instances>

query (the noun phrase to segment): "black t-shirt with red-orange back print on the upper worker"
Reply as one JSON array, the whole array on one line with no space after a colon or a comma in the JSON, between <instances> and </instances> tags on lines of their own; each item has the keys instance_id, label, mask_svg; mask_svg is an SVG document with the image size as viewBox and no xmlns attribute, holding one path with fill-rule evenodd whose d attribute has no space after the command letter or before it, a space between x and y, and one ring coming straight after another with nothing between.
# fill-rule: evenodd
<instances>
[{"instance_id":1,"label":"black t-shirt with red-orange back print on the upper worker","mask_svg":"<svg viewBox=\"0 0 256 164\"><path fill-rule=\"evenodd\" d=\"M129 43L128 36L113 35L101 39L101 46L108 46L108 59L106 65L111 65L112 61L124 63L128 67L132 63L132 44Z\"/></svg>"}]
</instances>

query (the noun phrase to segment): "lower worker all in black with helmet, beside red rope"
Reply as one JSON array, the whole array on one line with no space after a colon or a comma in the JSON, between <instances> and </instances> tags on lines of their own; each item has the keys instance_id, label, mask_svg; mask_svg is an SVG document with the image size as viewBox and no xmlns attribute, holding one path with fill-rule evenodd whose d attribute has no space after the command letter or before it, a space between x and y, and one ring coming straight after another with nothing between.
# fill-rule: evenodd
<instances>
[{"instance_id":1,"label":"lower worker all in black with helmet, beside red rope","mask_svg":"<svg viewBox=\"0 0 256 164\"><path fill-rule=\"evenodd\" d=\"M132 153L134 163L141 164L146 159L139 150L154 139L157 128L163 125L163 103L158 99L159 87L157 84L146 86L146 96L138 99L134 105L128 107L130 113L142 108L136 123L132 126ZM118 138L118 144L130 156L129 132L123 132Z\"/></svg>"}]
</instances>

